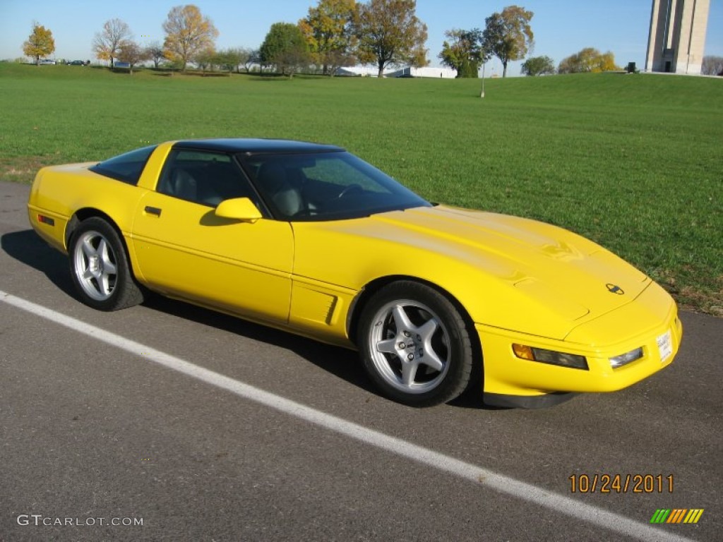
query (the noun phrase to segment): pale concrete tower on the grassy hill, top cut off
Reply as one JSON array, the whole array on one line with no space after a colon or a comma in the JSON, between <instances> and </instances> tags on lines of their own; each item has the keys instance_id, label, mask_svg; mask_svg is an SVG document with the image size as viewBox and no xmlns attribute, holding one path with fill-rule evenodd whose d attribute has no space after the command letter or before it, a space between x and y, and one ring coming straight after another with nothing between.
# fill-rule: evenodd
<instances>
[{"instance_id":1,"label":"pale concrete tower on the grassy hill, top cut off","mask_svg":"<svg viewBox=\"0 0 723 542\"><path fill-rule=\"evenodd\" d=\"M653 0L645 68L700 74L710 0Z\"/></svg>"}]
</instances>

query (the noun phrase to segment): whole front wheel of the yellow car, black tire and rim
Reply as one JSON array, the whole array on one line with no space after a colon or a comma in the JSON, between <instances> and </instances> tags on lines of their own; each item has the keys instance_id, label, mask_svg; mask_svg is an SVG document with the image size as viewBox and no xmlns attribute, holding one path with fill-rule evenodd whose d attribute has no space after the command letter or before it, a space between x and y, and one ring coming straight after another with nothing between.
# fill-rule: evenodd
<instances>
[{"instance_id":1,"label":"whole front wheel of the yellow car, black tire and rim","mask_svg":"<svg viewBox=\"0 0 723 542\"><path fill-rule=\"evenodd\" d=\"M356 339L369 377L398 403L447 403L469 384L468 326L445 295L422 283L403 280L377 291L361 311Z\"/></svg>"}]
</instances>

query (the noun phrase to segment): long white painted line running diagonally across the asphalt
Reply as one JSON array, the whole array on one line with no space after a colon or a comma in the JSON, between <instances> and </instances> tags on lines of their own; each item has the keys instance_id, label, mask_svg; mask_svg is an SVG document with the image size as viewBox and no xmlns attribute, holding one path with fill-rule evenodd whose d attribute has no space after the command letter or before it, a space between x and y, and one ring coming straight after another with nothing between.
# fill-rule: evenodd
<instances>
[{"instance_id":1,"label":"long white painted line running diagonally across the asphalt","mask_svg":"<svg viewBox=\"0 0 723 542\"><path fill-rule=\"evenodd\" d=\"M78 319L66 316L65 314L48 309L42 305L32 303L31 301L26 301L25 299L12 296L1 290L0 300L4 301L6 304L17 307L18 309L22 309L39 317L48 319L51 322L56 322L56 324L61 324L62 326L68 327L76 332L93 337L94 339L100 340L108 345L120 348L121 350L125 350L137 356L142 356L143 359L153 361L154 363L165 366L168 369L173 369L174 371L186 374L189 377L199 379L207 384L232 392L239 395L239 397L244 397L244 399L261 403L262 405L274 408L275 410L279 410L290 416L295 416L296 418L309 421L310 423L314 423L317 426L324 427L330 431L334 431L335 433L343 434L352 439L359 440L364 442L364 444L369 444L369 446L385 449L395 455L406 457L437 470L453 474L467 481L498 491L502 494L507 494L516 497L517 499L552 509L555 512L575 517L578 520L599 525L607 530L612 530L617 533L622 533L623 535L638 538L638 540L641 541L693 542L690 538L678 536L670 531L651 527L651 525L647 523L631 520L628 517L615 514L614 512L608 512L602 508L578 502L568 496L563 496L552 491L541 489L529 483L515 480L515 478L495 473L492 470L472 465L471 463L465 463L464 461L454 459L453 457L449 457L439 452L434 452L431 449L427 449L416 444L411 444L411 442L406 442L405 440L395 438L394 436L388 436L380 433L379 431L374 431L373 429L368 429L367 427L352 423L351 421L331 416L330 414L323 413L320 410L315 410L314 408L302 405L301 403L285 399L279 395L265 392L257 387L249 386L249 384L244 384L238 380L225 377L223 374L204 369L203 367L189 363L181 358L176 358L176 356L171 356L161 350L150 348L149 346L142 345L134 340L100 329L100 327L86 324Z\"/></svg>"}]
</instances>

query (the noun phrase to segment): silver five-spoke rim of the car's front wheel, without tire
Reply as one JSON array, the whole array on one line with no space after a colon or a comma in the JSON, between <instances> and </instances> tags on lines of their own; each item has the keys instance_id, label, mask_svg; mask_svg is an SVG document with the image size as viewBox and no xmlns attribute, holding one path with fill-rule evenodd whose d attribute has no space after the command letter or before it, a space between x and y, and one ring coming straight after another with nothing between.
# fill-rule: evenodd
<instances>
[{"instance_id":1,"label":"silver five-spoke rim of the car's front wheel, without tire","mask_svg":"<svg viewBox=\"0 0 723 542\"><path fill-rule=\"evenodd\" d=\"M450 339L428 306L400 299L383 305L369 330L369 352L377 373L402 392L434 390L449 369Z\"/></svg>"}]
</instances>

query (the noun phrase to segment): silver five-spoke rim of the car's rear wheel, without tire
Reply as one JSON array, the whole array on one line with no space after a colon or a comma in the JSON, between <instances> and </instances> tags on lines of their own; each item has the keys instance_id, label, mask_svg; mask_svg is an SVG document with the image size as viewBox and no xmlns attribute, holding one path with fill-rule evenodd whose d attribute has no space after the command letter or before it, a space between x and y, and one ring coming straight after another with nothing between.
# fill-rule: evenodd
<instances>
[{"instance_id":1,"label":"silver five-spoke rim of the car's rear wheel, without tire","mask_svg":"<svg viewBox=\"0 0 723 542\"><path fill-rule=\"evenodd\" d=\"M118 270L113 247L101 233L90 230L77 240L73 251L73 270L83 291L95 301L113 295Z\"/></svg>"}]
</instances>

